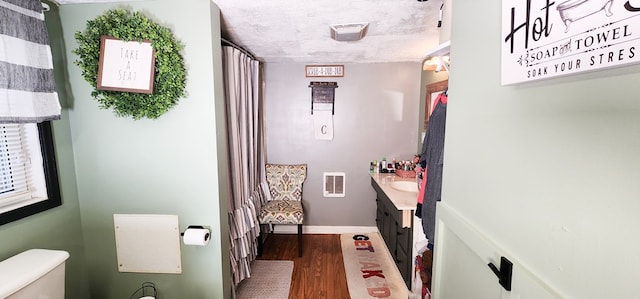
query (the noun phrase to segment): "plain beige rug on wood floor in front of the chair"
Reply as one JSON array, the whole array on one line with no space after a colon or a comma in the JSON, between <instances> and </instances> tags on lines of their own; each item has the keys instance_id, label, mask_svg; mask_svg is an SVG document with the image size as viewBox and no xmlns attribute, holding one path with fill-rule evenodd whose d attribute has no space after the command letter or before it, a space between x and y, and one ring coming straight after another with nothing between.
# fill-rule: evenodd
<instances>
[{"instance_id":1,"label":"plain beige rug on wood floor in front of the chair","mask_svg":"<svg viewBox=\"0 0 640 299\"><path fill-rule=\"evenodd\" d=\"M293 261L255 260L251 277L238 284L238 299L287 299L291 287Z\"/></svg>"}]
</instances>

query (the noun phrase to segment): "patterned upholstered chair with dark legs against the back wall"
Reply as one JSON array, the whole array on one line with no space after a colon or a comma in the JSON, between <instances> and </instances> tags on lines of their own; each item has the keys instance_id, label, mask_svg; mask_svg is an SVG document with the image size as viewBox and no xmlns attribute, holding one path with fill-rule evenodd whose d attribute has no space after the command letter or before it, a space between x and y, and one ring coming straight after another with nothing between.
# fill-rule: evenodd
<instances>
[{"instance_id":1,"label":"patterned upholstered chair with dark legs against the back wall","mask_svg":"<svg viewBox=\"0 0 640 299\"><path fill-rule=\"evenodd\" d=\"M267 164L266 176L271 198L258 215L260 224L295 224L298 226L298 256L302 256L302 183L307 178L307 164ZM262 239L262 238L261 238Z\"/></svg>"}]
</instances>

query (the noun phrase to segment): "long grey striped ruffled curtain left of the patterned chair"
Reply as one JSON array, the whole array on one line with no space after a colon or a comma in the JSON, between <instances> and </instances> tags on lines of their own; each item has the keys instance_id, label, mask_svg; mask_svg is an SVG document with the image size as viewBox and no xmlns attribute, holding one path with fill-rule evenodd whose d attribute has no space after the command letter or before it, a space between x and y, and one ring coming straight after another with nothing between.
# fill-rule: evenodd
<instances>
[{"instance_id":1,"label":"long grey striped ruffled curtain left of the patterned chair","mask_svg":"<svg viewBox=\"0 0 640 299\"><path fill-rule=\"evenodd\" d=\"M257 211L264 193L264 137L260 63L222 47L229 143L229 234L234 286L250 276L260 233Z\"/></svg>"}]
</instances>

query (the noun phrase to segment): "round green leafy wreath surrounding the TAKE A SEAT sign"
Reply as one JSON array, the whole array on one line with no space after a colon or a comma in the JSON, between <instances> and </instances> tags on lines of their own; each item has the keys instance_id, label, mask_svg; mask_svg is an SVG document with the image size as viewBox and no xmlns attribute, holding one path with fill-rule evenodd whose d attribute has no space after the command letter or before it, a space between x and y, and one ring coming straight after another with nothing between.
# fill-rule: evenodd
<instances>
[{"instance_id":1,"label":"round green leafy wreath surrounding the TAKE A SEAT sign","mask_svg":"<svg viewBox=\"0 0 640 299\"><path fill-rule=\"evenodd\" d=\"M100 61L100 37L112 36L123 41L151 41L155 50L154 90L151 94L97 89ZM184 46L169 29L162 27L139 12L112 9L94 20L87 21L84 33L75 33L79 46L72 52L79 56L75 63L82 69L82 77L93 86L91 96L100 108L112 108L117 116L156 119L186 95L186 70L180 51Z\"/></svg>"}]
</instances>

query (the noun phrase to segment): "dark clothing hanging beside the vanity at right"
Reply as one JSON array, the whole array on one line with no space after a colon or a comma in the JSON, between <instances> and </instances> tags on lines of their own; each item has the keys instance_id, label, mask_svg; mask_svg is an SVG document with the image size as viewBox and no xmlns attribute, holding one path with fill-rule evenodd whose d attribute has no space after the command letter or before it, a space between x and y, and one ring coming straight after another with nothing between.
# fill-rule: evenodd
<instances>
[{"instance_id":1,"label":"dark clothing hanging beside the vanity at right","mask_svg":"<svg viewBox=\"0 0 640 299\"><path fill-rule=\"evenodd\" d=\"M433 245L436 202L442 195L442 166L444 160L444 133L447 119L447 93L438 95L436 106L429 117L429 128L423 142L423 153L420 155L421 163L424 161L426 173L426 186L422 200L422 229Z\"/></svg>"}]
</instances>

